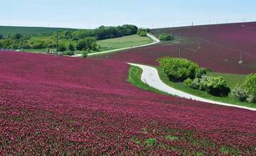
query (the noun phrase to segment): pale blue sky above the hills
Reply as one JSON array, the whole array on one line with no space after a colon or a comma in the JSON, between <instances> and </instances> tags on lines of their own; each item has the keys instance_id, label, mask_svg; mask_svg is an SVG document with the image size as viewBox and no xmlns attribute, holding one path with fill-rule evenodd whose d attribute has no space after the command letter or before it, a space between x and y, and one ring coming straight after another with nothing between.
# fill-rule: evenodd
<instances>
[{"instance_id":1,"label":"pale blue sky above the hills","mask_svg":"<svg viewBox=\"0 0 256 156\"><path fill-rule=\"evenodd\" d=\"M256 21L255 0L1 0L0 26L164 28Z\"/></svg>"}]
</instances>

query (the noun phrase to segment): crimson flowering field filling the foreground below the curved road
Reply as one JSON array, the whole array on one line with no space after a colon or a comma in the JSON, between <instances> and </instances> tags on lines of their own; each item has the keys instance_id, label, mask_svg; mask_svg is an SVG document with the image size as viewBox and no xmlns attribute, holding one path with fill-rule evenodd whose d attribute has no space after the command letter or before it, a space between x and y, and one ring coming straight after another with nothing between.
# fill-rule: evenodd
<instances>
[{"instance_id":1,"label":"crimson flowering field filling the foreground below the curved road","mask_svg":"<svg viewBox=\"0 0 256 156\"><path fill-rule=\"evenodd\" d=\"M0 155L256 154L256 113L137 89L112 60L0 52Z\"/></svg>"}]
</instances>

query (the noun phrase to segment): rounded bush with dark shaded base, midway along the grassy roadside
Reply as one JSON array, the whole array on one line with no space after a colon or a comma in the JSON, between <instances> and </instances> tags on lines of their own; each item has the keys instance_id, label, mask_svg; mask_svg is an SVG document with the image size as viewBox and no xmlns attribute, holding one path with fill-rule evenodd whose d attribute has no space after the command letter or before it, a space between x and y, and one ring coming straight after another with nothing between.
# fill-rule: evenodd
<instances>
[{"instance_id":1,"label":"rounded bush with dark shaded base, midway along the grassy roadside","mask_svg":"<svg viewBox=\"0 0 256 156\"><path fill-rule=\"evenodd\" d=\"M230 93L230 88L223 77L203 76L200 84L202 90L213 96L228 96Z\"/></svg>"}]
</instances>

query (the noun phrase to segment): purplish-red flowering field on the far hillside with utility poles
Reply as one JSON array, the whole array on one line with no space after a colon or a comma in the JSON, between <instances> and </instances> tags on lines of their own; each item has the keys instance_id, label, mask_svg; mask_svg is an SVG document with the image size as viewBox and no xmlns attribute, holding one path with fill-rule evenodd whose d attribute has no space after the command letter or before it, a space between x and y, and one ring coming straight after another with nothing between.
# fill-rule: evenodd
<instances>
[{"instance_id":1,"label":"purplish-red flowering field on the far hillside with utility poles","mask_svg":"<svg viewBox=\"0 0 256 156\"><path fill-rule=\"evenodd\" d=\"M181 57L197 62L201 67L212 68L215 72L250 74L256 72L256 23L241 23L220 26L196 26L187 28L165 28L151 30L151 33L181 35L181 44L161 43L136 50L113 53L108 58L124 62L158 65L159 57ZM199 40L199 49L198 49ZM240 62L242 54L243 63ZM103 56L104 57L104 56Z\"/></svg>"}]
</instances>

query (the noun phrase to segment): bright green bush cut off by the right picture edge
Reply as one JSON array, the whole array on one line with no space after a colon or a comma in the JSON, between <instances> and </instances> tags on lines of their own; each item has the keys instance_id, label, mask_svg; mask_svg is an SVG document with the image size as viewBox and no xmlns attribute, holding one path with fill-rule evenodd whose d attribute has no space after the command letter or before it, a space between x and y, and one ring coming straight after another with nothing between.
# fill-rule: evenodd
<instances>
[{"instance_id":1,"label":"bright green bush cut off by the right picture edge","mask_svg":"<svg viewBox=\"0 0 256 156\"><path fill-rule=\"evenodd\" d=\"M243 87L248 96L256 96L256 74L246 77Z\"/></svg>"}]
</instances>

